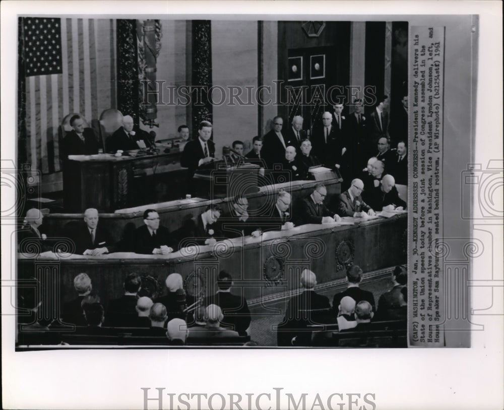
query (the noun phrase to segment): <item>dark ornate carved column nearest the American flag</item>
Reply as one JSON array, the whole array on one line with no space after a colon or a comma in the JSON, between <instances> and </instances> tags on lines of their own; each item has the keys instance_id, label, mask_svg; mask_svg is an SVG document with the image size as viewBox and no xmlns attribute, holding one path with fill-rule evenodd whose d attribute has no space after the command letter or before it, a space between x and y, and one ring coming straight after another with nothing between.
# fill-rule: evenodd
<instances>
[{"instance_id":1,"label":"dark ornate carved column nearest the American flag","mask_svg":"<svg viewBox=\"0 0 504 410\"><path fill-rule=\"evenodd\" d=\"M117 109L139 121L137 21L117 20Z\"/></svg>"}]
</instances>

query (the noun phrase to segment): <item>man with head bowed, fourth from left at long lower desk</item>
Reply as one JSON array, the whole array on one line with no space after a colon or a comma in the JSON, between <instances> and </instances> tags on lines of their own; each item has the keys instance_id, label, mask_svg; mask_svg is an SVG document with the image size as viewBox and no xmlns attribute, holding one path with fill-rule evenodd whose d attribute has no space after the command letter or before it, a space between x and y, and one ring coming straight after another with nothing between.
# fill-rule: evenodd
<instances>
[{"instance_id":1,"label":"man with head bowed, fourth from left at long lower desk","mask_svg":"<svg viewBox=\"0 0 504 410\"><path fill-rule=\"evenodd\" d=\"M187 220L181 227L179 248L185 248L184 243L198 243L199 245L213 245L223 238L220 227L217 224L222 213L222 208L217 204L210 204L205 212L196 218ZM187 242L188 240L188 242Z\"/></svg>"}]
</instances>

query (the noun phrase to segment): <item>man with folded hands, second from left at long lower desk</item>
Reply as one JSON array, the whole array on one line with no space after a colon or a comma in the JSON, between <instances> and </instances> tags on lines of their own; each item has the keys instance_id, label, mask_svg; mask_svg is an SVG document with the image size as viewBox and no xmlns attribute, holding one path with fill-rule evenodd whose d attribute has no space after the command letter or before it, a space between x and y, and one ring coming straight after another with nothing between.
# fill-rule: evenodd
<instances>
[{"instance_id":1,"label":"man with folded hands, second from left at long lower desk","mask_svg":"<svg viewBox=\"0 0 504 410\"><path fill-rule=\"evenodd\" d=\"M98 210L89 208L84 211L84 223L75 231L68 232L75 243L77 255L98 256L112 254L117 246L110 232L98 224Z\"/></svg>"}]
</instances>

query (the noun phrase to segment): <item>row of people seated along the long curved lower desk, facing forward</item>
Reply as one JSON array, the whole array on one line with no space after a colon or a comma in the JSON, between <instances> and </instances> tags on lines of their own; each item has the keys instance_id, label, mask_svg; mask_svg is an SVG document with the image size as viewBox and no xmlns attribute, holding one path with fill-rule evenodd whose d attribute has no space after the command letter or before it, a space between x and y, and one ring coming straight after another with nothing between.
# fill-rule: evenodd
<instances>
[{"instance_id":1,"label":"row of people seated along the long curved lower desk, facing forward","mask_svg":"<svg viewBox=\"0 0 504 410\"><path fill-rule=\"evenodd\" d=\"M173 232L160 225L159 214L154 209L147 209L143 215L144 225L120 241L114 240L110 232L99 224L98 211L90 208L84 212L84 221L72 225L65 235L72 239L75 244L73 253L77 255L99 256L114 252L167 255L190 244L213 244L224 238L259 236L268 230L334 223L342 217L374 216L375 210L401 211L406 208L406 202L399 197L395 187L394 177L384 174L380 160L371 158L365 172L364 181L352 180L348 190L329 198L327 205L327 189L323 183L316 184L308 197L293 204L292 212L289 212L291 196L284 190L278 192L274 206L262 214L248 209L245 196L236 196L230 203L229 213L224 214L219 204L212 203L202 214L188 219ZM33 243L38 244L39 252L50 249L51 235L44 231L42 222L40 210L27 211L25 225L18 232L20 252L27 252Z\"/></svg>"}]
</instances>

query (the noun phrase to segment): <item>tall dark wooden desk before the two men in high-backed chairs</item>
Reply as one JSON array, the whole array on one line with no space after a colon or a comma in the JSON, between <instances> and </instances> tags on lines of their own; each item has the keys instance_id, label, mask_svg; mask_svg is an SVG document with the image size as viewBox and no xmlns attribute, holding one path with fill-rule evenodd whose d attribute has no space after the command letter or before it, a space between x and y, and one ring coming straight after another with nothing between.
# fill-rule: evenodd
<instances>
[{"instance_id":1,"label":"tall dark wooden desk before the two men in high-backed chairs","mask_svg":"<svg viewBox=\"0 0 504 410\"><path fill-rule=\"evenodd\" d=\"M179 181L187 179L187 170L180 167L178 151L155 155L131 153L131 156L120 157L70 155L63 169L65 211L80 213L96 208L99 212L113 212L148 203L146 193L142 192L146 178L166 173L169 178L164 182L170 184L167 191L171 199L185 195L185 192L178 192L183 189Z\"/></svg>"}]
</instances>

